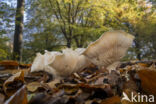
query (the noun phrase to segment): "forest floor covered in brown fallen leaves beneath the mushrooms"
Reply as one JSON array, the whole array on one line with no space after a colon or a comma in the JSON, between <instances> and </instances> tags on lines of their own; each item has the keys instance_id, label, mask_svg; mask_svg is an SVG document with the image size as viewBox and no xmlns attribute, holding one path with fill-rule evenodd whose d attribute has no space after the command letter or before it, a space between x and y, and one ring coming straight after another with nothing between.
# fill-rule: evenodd
<instances>
[{"instance_id":1,"label":"forest floor covered in brown fallen leaves beneath the mushrooms","mask_svg":"<svg viewBox=\"0 0 156 104\"><path fill-rule=\"evenodd\" d=\"M132 93L137 98L140 95L156 96L156 62L125 62L111 73L100 73L97 66L90 65L63 80L53 80L46 72L30 73L30 65L19 65L14 61L0 62L0 104L139 102L139 98L136 102L122 100L123 92L129 99ZM140 104L150 104L146 100L140 101Z\"/></svg>"}]
</instances>

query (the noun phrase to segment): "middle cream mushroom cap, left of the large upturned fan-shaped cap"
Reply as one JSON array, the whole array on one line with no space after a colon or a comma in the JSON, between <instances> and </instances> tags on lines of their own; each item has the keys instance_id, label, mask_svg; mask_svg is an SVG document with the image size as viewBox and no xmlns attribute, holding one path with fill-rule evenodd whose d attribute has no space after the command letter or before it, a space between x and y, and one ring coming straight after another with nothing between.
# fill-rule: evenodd
<instances>
[{"instance_id":1,"label":"middle cream mushroom cap, left of the large upturned fan-shaped cap","mask_svg":"<svg viewBox=\"0 0 156 104\"><path fill-rule=\"evenodd\" d=\"M62 55L57 55L54 62L50 64L51 67L56 69L58 76L66 77L70 74L82 70L88 66L90 62L85 56L81 55L78 51L72 49L64 49Z\"/></svg>"}]
</instances>

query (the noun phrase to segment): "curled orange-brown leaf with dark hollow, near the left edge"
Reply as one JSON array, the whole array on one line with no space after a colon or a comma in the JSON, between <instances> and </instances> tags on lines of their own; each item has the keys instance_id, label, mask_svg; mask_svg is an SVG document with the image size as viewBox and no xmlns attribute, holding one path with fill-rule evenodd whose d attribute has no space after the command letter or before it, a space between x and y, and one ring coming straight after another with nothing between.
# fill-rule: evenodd
<instances>
[{"instance_id":1,"label":"curled orange-brown leaf with dark hollow, near the left edge","mask_svg":"<svg viewBox=\"0 0 156 104\"><path fill-rule=\"evenodd\" d=\"M24 72L20 71L10 78L8 78L3 84L3 90L7 96L14 94L24 84Z\"/></svg>"}]
</instances>

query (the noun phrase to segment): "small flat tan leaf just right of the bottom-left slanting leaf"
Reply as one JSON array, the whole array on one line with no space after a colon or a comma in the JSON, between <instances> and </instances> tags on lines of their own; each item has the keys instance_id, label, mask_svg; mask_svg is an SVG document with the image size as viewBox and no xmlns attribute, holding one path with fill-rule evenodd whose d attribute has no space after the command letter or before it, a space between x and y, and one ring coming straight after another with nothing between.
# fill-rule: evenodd
<instances>
[{"instance_id":1,"label":"small flat tan leaf just right of the bottom-left slanting leaf","mask_svg":"<svg viewBox=\"0 0 156 104\"><path fill-rule=\"evenodd\" d=\"M41 84L39 82L32 82L27 84L27 90L30 92L35 92L39 87L41 87Z\"/></svg>"}]
</instances>

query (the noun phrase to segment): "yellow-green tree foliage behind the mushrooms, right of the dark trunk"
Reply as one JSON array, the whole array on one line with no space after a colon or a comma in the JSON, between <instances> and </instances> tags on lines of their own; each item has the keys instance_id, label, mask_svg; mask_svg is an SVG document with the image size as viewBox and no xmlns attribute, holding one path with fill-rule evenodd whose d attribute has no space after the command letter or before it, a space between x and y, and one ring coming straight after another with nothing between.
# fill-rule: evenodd
<instances>
[{"instance_id":1,"label":"yellow-green tree foliage behind the mushrooms, right of the dark trunk","mask_svg":"<svg viewBox=\"0 0 156 104\"><path fill-rule=\"evenodd\" d=\"M70 47L70 43L74 48L87 47L105 31L122 29L135 35L137 42L125 59L149 53L151 57L156 49L151 38L155 34L155 8L150 4L145 0L36 0L31 4L34 15L28 26L43 34L52 30L58 44ZM38 47L37 39L33 41Z\"/></svg>"}]
</instances>

